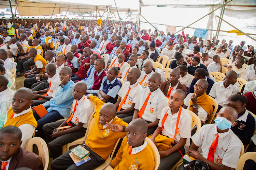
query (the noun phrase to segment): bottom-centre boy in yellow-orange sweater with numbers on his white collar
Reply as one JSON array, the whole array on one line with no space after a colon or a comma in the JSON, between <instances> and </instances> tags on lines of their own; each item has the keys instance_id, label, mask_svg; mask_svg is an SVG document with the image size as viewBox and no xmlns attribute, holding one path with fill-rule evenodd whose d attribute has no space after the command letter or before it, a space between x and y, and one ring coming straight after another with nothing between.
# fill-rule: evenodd
<instances>
[{"instance_id":1,"label":"bottom-centre boy in yellow-orange sweater with numbers on his white collar","mask_svg":"<svg viewBox=\"0 0 256 170\"><path fill-rule=\"evenodd\" d=\"M144 119L132 120L128 127L115 159L109 164L115 170L140 169L153 170L155 159L150 146L147 145L147 122Z\"/></svg>"}]
</instances>

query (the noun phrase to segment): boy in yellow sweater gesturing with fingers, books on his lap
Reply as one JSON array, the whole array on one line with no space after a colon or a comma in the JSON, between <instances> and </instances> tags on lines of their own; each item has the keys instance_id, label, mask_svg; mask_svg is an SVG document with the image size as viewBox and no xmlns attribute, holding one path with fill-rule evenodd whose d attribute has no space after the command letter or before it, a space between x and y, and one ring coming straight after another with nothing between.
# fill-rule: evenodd
<instances>
[{"instance_id":1,"label":"boy in yellow sweater gesturing with fingers, books on his lap","mask_svg":"<svg viewBox=\"0 0 256 170\"><path fill-rule=\"evenodd\" d=\"M83 147L90 152L88 162L79 166L79 169L95 169L105 162L112 153L118 138L124 138L128 124L116 117L116 106L113 103L104 103L98 97L91 94L87 98L97 105L95 108L93 130L85 140ZM106 125L107 122L123 126L122 132L114 132ZM72 150L72 149L71 149ZM71 150L54 159L51 163L52 170L77 169L69 156Z\"/></svg>"}]
</instances>

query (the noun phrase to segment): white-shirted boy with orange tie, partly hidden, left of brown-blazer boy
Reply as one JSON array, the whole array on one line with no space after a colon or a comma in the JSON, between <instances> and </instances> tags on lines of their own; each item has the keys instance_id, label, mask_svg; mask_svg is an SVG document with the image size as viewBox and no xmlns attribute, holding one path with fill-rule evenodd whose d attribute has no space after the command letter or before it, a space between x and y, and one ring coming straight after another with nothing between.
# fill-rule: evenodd
<instances>
[{"instance_id":1,"label":"white-shirted boy with orange tie, partly hidden, left of brown-blazer boy","mask_svg":"<svg viewBox=\"0 0 256 170\"><path fill-rule=\"evenodd\" d=\"M138 82L142 88L147 87L148 79L154 72L158 72L161 75L161 82L166 81L165 73L158 68L153 68L153 63L151 61L147 61L143 64L143 70L144 71L141 72L141 76L138 79Z\"/></svg>"}]
</instances>

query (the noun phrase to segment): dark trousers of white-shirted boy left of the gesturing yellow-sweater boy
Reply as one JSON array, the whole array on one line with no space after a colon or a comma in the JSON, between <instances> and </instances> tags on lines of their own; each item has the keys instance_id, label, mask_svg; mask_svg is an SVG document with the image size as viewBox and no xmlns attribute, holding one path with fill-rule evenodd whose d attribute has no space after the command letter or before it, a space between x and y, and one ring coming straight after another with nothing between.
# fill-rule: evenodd
<instances>
[{"instance_id":1,"label":"dark trousers of white-shirted boy left of the gesturing yellow-sweater boy","mask_svg":"<svg viewBox=\"0 0 256 170\"><path fill-rule=\"evenodd\" d=\"M53 159L56 159L62 154L62 146L75 141L85 135L86 129L82 128L80 131L68 133L65 135L61 135L55 139L52 139L50 136L53 134L53 130L58 128L63 121L57 121L52 123L47 123L43 125L43 132L46 137L46 140L49 142L48 146L52 153ZM72 126L75 124L72 123Z\"/></svg>"}]
</instances>

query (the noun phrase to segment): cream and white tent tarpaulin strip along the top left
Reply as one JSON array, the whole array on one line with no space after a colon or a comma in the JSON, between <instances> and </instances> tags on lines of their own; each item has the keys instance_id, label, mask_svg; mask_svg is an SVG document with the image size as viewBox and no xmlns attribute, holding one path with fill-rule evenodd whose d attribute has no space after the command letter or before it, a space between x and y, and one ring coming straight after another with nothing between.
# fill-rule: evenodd
<instances>
[{"instance_id":1,"label":"cream and white tent tarpaulin strip along the top left","mask_svg":"<svg viewBox=\"0 0 256 170\"><path fill-rule=\"evenodd\" d=\"M12 0L12 7L16 6L17 0ZM122 3L122 0L116 0L118 12L138 12L138 0L129 0L128 4ZM56 4L56 5L55 5ZM60 8L59 8L60 4ZM70 5L70 7L69 7ZM55 6L55 8L54 8ZM79 7L79 9L77 8ZM22 16L38 16L38 15L55 15L60 12L89 12L96 11L96 6L99 11L105 11L107 6L110 6L111 12L116 12L114 0L19 0L18 12ZM9 0L0 0L0 8L10 8ZM69 10L68 10L69 8ZM80 10L80 11L79 11Z\"/></svg>"}]
</instances>

